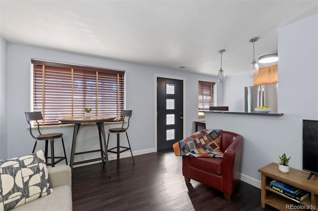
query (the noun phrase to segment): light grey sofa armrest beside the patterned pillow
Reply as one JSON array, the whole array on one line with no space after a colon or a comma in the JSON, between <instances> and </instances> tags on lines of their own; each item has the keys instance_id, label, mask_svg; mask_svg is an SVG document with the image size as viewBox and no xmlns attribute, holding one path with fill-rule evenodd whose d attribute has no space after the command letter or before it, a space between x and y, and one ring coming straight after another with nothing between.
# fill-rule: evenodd
<instances>
[{"instance_id":1,"label":"light grey sofa armrest beside the patterned pillow","mask_svg":"<svg viewBox=\"0 0 318 211\"><path fill-rule=\"evenodd\" d=\"M50 188L68 185L72 188L72 170L68 165L48 168Z\"/></svg>"}]
</instances>

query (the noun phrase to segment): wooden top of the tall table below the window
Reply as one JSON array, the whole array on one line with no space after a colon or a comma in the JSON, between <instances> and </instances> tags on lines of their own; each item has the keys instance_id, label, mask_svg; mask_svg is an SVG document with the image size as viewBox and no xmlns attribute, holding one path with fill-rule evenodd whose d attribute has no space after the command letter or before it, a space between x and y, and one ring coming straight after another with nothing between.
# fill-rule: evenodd
<instances>
[{"instance_id":1,"label":"wooden top of the tall table below the window","mask_svg":"<svg viewBox=\"0 0 318 211\"><path fill-rule=\"evenodd\" d=\"M78 123L99 123L99 122L107 122L114 120L114 116L76 116L76 117L60 117L58 120L65 124L78 124Z\"/></svg>"}]
</instances>

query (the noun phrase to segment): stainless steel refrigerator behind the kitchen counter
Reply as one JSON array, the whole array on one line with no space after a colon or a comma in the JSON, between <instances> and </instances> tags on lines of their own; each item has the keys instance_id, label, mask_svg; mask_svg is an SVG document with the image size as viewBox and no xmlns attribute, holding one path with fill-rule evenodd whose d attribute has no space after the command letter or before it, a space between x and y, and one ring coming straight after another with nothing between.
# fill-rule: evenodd
<instances>
[{"instance_id":1,"label":"stainless steel refrigerator behind the kitchen counter","mask_svg":"<svg viewBox=\"0 0 318 211\"><path fill-rule=\"evenodd\" d=\"M255 112L257 106L267 105L269 113L278 112L278 84L245 87L245 112Z\"/></svg>"}]
</instances>

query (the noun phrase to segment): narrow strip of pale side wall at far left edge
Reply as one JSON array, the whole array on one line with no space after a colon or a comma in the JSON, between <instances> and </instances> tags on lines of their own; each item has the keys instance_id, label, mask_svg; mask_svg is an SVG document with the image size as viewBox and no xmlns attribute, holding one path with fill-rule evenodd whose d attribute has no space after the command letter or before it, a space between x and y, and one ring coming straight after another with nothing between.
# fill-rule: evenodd
<instances>
[{"instance_id":1,"label":"narrow strip of pale side wall at far left edge","mask_svg":"<svg viewBox=\"0 0 318 211\"><path fill-rule=\"evenodd\" d=\"M0 159L7 157L6 53L7 43L0 36Z\"/></svg>"}]
</instances>

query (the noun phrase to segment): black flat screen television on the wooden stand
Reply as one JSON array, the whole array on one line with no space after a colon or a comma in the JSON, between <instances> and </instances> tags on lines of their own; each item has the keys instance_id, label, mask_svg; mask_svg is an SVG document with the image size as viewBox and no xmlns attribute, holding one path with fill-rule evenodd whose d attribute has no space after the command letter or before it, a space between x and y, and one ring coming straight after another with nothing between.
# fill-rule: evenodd
<instances>
[{"instance_id":1,"label":"black flat screen television on the wooden stand","mask_svg":"<svg viewBox=\"0 0 318 211\"><path fill-rule=\"evenodd\" d=\"M303 170L318 175L318 120L303 119Z\"/></svg>"}]
</instances>

